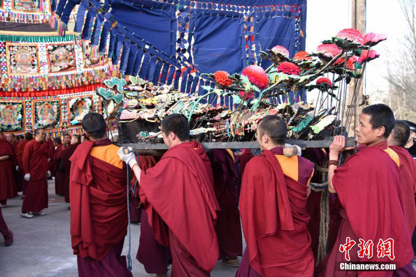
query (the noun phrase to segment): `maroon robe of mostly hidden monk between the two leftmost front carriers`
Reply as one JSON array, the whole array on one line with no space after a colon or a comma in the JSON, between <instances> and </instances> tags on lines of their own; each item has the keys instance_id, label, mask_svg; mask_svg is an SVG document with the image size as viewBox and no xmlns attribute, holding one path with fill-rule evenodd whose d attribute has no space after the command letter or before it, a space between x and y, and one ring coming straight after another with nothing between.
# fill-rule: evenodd
<instances>
[{"instance_id":1,"label":"maroon robe of mostly hidden monk between the two leftmost front carriers","mask_svg":"<svg viewBox=\"0 0 416 277\"><path fill-rule=\"evenodd\" d=\"M159 160L159 159L158 159ZM156 158L153 156L140 156L140 168L148 170L156 165ZM133 178L136 181L136 177ZM142 211L142 209L140 208ZM139 249L136 259L143 264L149 274L165 274L167 272L170 255L169 247L160 244L153 235L152 227L146 211L141 212Z\"/></svg>"}]
</instances>

